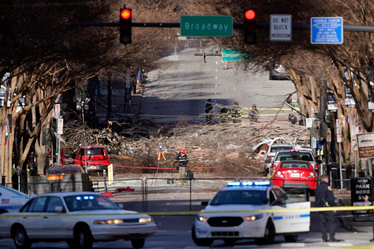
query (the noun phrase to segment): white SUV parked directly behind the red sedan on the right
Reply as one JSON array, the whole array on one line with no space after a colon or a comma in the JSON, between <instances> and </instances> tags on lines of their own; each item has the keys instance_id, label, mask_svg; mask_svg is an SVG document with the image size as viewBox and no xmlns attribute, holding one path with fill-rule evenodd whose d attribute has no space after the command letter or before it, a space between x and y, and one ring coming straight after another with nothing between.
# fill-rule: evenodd
<instances>
[{"instance_id":1,"label":"white SUV parked directly behind the red sedan on the right","mask_svg":"<svg viewBox=\"0 0 374 249\"><path fill-rule=\"evenodd\" d=\"M272 168L275 169L279 162L287 160L310 162L316 172L319 171L318 165L322 164L322 161L317 160L310 150L278 150L272 161Z\"/></svg>"}]
</instances>

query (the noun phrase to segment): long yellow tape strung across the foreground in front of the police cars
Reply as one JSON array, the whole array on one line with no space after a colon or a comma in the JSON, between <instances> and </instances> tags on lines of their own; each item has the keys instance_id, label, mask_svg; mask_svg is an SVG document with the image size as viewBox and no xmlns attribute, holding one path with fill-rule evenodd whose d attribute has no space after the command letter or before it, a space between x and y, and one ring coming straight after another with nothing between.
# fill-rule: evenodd
<instances>
[{"instance_id":1,"label":"long yellow tape strung across the foreground in front of the police cars","mask_svg":"<svg viewBox=\"0 0 374 249\"><path fill-rule=\"evenodd\" d=\"M135 214L148 214L148 215L196 215L196 214L220 214L220 213L278 213L278 212L297 212L297 211L353 211L353 210L370 210L374 206L339 206L339 207L326 207L326 208L293 208L293 209L254 209L254 210L236 210L236 211L177 211L177 212L138 212ZM102 213L102 214L48 214L47 216L88 216L88 215L119 215L118 213ZM134 213L124 213L120 215L134 215ZM0 215L1 218L9 217L45 217L45 214L32 214L25 215L21 213L11 214L4 213ZM373 245L374 248L374 245Z\"/></svg>"}]
</instances>

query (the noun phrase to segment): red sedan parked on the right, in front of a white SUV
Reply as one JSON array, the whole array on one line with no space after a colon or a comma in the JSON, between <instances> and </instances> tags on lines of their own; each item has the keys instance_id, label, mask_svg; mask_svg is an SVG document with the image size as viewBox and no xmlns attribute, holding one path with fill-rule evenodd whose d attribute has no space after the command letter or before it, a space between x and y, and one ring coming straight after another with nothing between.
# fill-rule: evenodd
<instances>
[{"instance_id":1,"label":"red sedan parked on the right, in front of a white SUV","mask_svg":"<svg viewBox=\"0 0 374 249\"><path fill-rule=\"evenodd\" d=\"M272 184L283 189L307 187L316 189L317 177L312 164L307 161L281 161L271 178Z\"/></svg>"}]
</instances>

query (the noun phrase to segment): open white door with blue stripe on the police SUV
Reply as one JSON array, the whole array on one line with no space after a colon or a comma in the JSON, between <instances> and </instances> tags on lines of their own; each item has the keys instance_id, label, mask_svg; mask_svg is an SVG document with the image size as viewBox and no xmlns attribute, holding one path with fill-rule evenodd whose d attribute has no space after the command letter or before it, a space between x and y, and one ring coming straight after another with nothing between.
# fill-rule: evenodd
<instances>
[{"instance_id":1,"label":"open white door with blue stripe on the police SUV","mask_svg":"<svg viewBox=\"0 0 374 249\"><path fill-rule=\"evenodd\" d=\"M310 211L295 210L309 209L310 202L307 201L306 189L292 189L283 193L280 189L272 190L277 199L271 203L273 212L273 223L277 234L309 232ZM290 210L291 209L291 210Z\"/></svg>"}]
</instances>

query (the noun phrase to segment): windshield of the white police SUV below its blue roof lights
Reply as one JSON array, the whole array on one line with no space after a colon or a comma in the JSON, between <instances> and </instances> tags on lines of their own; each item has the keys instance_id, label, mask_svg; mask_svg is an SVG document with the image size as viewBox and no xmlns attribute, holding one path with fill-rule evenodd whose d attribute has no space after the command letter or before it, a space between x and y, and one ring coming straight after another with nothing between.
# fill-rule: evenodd
<instances>
[{"instance_id":1,"label":"windshield of the white police SUV below its blue roof lights","mask_svg":"<svg viewBox=\"0 0 374 249\"><path fill-rule=\"evenodd\" d=\"M228 190L220 191L211 201L210 205L222 204L264 204L266 191L264 190Z\"/></svg>"}]
</instances>

